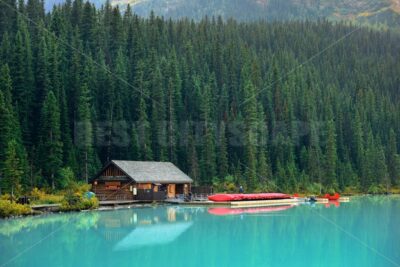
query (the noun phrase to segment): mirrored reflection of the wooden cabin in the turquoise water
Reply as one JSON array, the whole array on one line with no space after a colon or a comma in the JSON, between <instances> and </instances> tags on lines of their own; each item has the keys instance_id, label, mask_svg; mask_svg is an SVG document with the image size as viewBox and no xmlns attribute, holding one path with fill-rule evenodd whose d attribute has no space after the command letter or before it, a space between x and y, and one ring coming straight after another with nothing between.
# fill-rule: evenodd
<instances>
[{"instance_id":1,"label":"mirrored reflection of the wooden cabin in the turquoise water","mask_svg":"<svg viewBox=\"0 0 400 267\"><path fill-rule=\"evenodd\" d=\"M94 227L114 251L167 245L192 225L203 208L163 207L97 213ZM105 252L107 253L107 252Z\"/></svg>"}]
</instances>

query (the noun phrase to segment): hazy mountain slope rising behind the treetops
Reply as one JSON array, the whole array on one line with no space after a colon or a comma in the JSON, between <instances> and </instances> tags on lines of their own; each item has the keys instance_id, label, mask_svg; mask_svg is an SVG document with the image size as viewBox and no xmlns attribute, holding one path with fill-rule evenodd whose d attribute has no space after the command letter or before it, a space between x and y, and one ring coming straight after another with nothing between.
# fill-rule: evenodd
<instances>
[{"instance_id":1,"label":"hazy mountain slope rising behind the treetops","mask_svg":"<svg viewBox=\"0 0 400 267\"><path fill-rule=\"evenodd\" d=\"M400 0L114 0L113 5L130 4L147 16L167 18L222 16L238 20L318 19L351 20L400 27Z\"/></svg>"}]
</instances>

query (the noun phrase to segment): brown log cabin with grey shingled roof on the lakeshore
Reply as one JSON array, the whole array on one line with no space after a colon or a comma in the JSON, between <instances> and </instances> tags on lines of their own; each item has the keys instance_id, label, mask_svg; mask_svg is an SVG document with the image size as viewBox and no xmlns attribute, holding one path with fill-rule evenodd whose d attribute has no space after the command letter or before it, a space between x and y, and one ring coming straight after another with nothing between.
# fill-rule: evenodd
<instances>
[{"instance_id":1,"label":"brown log cabin with grey shingled roof on the lakeshore","mask_svg":"<svg viewBox=\"0 0 400 267\"><path fill-rule=\"evenodd\" d=\"M92 180L100 200L163 200L183 196L193 182L170 162L110 161Z\"/></svg>"}]
</instances>

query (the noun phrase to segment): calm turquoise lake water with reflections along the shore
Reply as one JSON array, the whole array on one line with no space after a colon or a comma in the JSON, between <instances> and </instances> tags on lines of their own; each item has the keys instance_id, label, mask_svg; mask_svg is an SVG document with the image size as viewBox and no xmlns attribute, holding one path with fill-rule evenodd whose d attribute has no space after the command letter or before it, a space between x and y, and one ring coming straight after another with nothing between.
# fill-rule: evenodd
<instances>
[{"instance_id":1,"label":"calm turquoise lake water with reflections along the shore","mask_svg":"<svg viewBox=\"0 0 400 267\"><path fill-rule=\"evenodd\" d=\"M400 266L400 197L0 220L0 266Z\"/></svg>"}]
</instances>

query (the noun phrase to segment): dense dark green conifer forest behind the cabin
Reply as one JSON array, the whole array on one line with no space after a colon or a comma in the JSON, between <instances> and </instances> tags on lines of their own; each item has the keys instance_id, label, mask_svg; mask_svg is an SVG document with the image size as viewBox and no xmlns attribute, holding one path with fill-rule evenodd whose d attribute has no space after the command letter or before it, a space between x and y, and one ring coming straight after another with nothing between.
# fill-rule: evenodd
<instances>
[{"instance_id":1,"label":"dense dark green conifer forest behind the cabin","mask_svg":"<svg viewBox=\"0 0 400 267\"><path fill-rule=\"evenodd\" d=\"M3 192L85 181L111 159L248 190L400 183L397 34L1 3Z\"/></svg>"}]
</instances>

